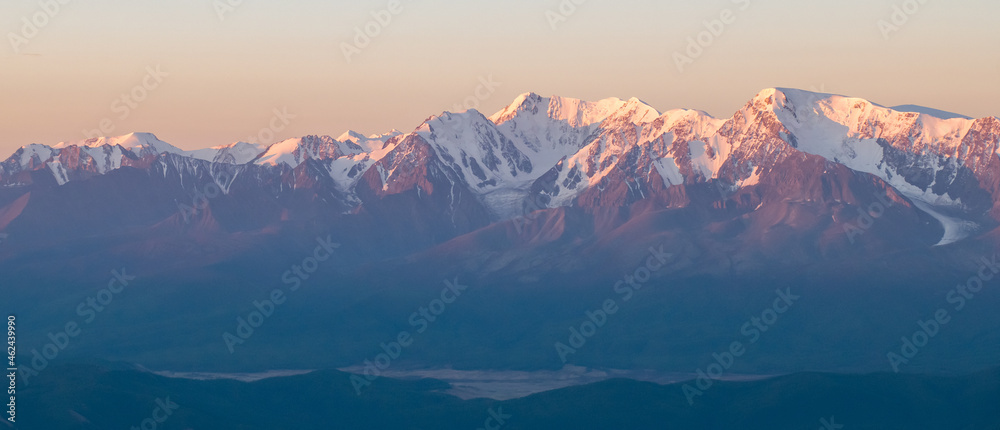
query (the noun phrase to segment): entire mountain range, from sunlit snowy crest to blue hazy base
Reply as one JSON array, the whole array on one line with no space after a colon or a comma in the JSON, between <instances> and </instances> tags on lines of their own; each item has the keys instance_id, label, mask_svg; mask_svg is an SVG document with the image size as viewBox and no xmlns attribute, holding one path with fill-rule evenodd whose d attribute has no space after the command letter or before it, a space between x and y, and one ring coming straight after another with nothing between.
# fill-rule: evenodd
<instances>
[{"instance_id":1,"label":"entire mountain range, from sunlit snowy crest to blue hazy base","mask_svg":"<svg viewBox=\"0 0 1000 430\"><path fill-rule=\"evenodd\" d=\"M688 372L777 284L812 289L789 324L818 328L774 334L743 372L886 370L885 351L944 302L912 289L951 287L967 276L956 267L975 273L1000 244L1000 119L900 109L767 89L714 118L529 93L408 133L194 151L144 133L32 144L0 163L0 270L28 285L63 268L11 299L39 309L24 316L39 339L77 303L50 297L83 299L110 268L141 273L155 293L130 304L135 332L94 334L77 353L199 371L356 365L460 276L481 290L448 312L471 322L443 318L404 360L558 368L553 343L653 250L669 262L643 303L572 364ZM275 317L241 346L256 353L230 355L219 334L240 304L282 285L316 238L341 247L282 310L294 321ZM915 368L995 365L1000 319L973 320L950 339L975 353L929 350ZM190 330L143 340L165 324Z\"/></svg>"}]
</instances>

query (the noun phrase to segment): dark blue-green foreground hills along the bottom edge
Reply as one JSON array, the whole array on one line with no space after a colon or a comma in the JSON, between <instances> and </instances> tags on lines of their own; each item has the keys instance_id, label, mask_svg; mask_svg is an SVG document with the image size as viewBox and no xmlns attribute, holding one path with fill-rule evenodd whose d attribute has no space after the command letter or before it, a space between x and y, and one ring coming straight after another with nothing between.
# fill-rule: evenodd
<instances>
[{"instance_id":1,"label":"dark blue-green foreground hills along the bottom edge","mask_svg":"<svg viewBox=\"0 0 1000 430\"><path fill-rule=\"evenodd\" d=\"M23 392L13 428L141 428L153 418L162 420L159 429L214 430L1000 428L1000 368L955 377L800 373L716 382L694 405L682 385L617 379L501 402L442 394L447 384L436 380L382 378L357 396L339 371L246 383L63 365Z\"/></svg>"}]
</instances>

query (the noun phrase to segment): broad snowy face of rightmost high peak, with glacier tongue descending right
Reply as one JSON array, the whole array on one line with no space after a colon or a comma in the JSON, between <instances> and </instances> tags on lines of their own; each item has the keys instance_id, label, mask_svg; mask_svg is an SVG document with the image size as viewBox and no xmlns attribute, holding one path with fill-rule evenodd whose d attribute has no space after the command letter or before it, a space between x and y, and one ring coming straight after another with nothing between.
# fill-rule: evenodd
<instances>
[{"instance_id":1,"label":"broad snowy face of rightmost high peak, with glacier tongue descending right","mask_svg":"<svg viewBox=\"0 0 1000 430\"><path fill-rule=\"evenodd\" d=\"M996 134L989 126L984 130L978 120L936 110L891 109L853 97L766 91L755 103L771 100L770 108L791 134L788 141L799 151L875 175L935 217L940 208L963 206L961 199L943 190L958 181L960 168L975 167L967 160L996 157ZM901 159L893 153L908 155ZM944 224L942 244L971 231Z\"/></svg>"}]
</instances>

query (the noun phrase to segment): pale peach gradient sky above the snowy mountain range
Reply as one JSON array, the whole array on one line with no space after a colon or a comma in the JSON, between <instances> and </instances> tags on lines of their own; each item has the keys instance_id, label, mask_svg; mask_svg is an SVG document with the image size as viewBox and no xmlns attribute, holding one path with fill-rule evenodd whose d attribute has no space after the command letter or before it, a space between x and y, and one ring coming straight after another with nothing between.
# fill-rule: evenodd
<instances>
[{"instance_id":1,"label":"pale peach gradient sky above the snowy mountain range","mask_svg":"<svg viewBox=\"0 0 1000 430\"><path fill-rule=\"evenodd\" d=\"M902 0L587 0L555 30L546 12L570 0L403 0L351 62L341 44L388 0L243 0L224 19L213 3L72 0L15 53L10 34L42 9L4 0L0 159L83 139L104 118L110 135L147 131L184 149L261 136L276 108L295 117L274 139L409 131L490 76L487 115L533 91L728 117L775 86L1000 115L995 0L928 0L889 40L877 23ZM679 72L673 53L725 9L736 21ZM112 102L157 65L169 76L121 119Z\"/></svg>"}]
</instances>

